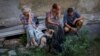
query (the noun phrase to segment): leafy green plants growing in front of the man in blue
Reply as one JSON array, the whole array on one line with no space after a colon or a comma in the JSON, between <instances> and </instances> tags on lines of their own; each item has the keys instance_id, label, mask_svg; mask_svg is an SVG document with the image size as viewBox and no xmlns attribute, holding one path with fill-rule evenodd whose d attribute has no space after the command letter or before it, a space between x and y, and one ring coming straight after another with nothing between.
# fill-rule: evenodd
<instances>
[{"instance_id":1,"label":"leafy green plants growing in front of the man in blue","mask_svg":"<svg viewBox=\"0 0 100 56\"><path fill-rule=\"evenodd\" d=\"M89 47L87 33L87 30L81 30L79 37L66 36L66 41L63 44L64 51L61 56L86 56Z\"/></svg>"}]
</instances>

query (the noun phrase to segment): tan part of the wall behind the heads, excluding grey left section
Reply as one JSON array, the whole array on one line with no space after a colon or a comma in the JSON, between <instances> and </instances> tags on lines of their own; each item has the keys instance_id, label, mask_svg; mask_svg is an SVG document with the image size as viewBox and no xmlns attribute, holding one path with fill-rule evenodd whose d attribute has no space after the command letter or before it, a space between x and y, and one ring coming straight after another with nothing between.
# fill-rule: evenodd
<instances>
[{"instance_id":1,"label":"tan part of the wall behind the heads, excluding grey left section","mask_svg":"<svg viewBox=\"0 0 100 56\"><path fill-rule=\"evenodd\" d=\"M62 7L62 12L68 7L73 7L81 13L98 13L100 12L100 0L21 0L23 4L31 5L36 15L44 15L51 9L53 3L58 3ZM25 2L26 1L26 2Z\"/></svg>"}]
</instances>

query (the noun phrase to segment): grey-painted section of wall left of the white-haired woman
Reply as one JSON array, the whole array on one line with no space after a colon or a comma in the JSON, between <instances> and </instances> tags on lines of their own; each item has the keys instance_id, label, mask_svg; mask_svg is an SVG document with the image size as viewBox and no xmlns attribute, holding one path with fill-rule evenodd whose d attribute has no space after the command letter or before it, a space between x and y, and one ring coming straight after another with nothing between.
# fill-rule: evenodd
<instances>
[{"instance_id":1,"label":"grey-painted section of wall left of the white-haired woman","mask_svg":"<svg viewBox=\"0 0 100 56\"><path fill-rule=\"evenodd\" d=\"M19 22L18 0L0 0L0 26L13 26Z\"/></svg>"}]
</instances>

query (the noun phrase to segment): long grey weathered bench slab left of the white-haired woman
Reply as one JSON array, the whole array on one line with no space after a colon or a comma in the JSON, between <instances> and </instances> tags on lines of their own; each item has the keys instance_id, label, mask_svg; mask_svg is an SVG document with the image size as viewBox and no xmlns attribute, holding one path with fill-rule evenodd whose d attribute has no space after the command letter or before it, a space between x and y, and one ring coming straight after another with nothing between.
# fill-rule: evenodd
<instances>
[{"instance_id":1,"label":"long grey weathered bench slab left of the white-haired woman","mask_svg":"<svg viewBox=\"0 0 100 56\"><path fill-rule=\"evenodd\" d=\"M9 27L9 28L0 30L0 38L23 34L23 33L24 33L23 26L18 25L18 26Z\"/></svg>"}]
</instances>

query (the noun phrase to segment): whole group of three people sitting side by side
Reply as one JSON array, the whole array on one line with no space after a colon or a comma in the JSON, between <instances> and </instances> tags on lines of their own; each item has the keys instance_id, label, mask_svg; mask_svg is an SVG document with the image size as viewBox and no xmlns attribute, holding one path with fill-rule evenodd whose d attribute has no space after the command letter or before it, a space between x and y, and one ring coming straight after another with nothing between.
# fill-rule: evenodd
<instances>
[{"instance_id":1,"label":"whole group of three people sitting side by side","mask_svg":"<svg viewBox=\"0 0 100 56\"><path fill-rule=\"evenodd\" d=\"M61 19L63 19L63 24L60 22ZM54 3L51 10L46 13L46 29L44 31L38 28L39 25L34 18L34 14L28 7L23 7L21 21L27 34L26 47L42 48L51 42L53 45L57 45L55 42L59 43L59 45L62 44L65 33L77 32L81 28L83 18L73 8L68 8L63 18L61 18L61 7L59 4Z\"/></svg>"}]
</instances>

